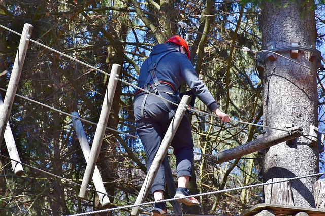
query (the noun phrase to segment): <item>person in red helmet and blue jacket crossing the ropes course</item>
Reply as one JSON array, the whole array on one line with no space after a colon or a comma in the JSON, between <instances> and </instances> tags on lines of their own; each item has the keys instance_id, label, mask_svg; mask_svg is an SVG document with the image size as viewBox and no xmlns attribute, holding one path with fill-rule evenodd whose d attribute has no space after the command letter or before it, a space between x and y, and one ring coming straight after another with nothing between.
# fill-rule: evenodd
<instances>
[{"instance_id":1,"label":"person in red helmet and blue jacket crossing the ropes course","mask_svg":"<svg viewBox=\"0 0 325 216\"><path fill-rule=\"evenodd\" d=\"M155 45L140 68L137 86L179 104L181 98L178 96L177 89L185 82L192 92L223 122L231 121L228 114L220 111L215 99L199 79L189 59L188 45L183 38L177 35L169 38L165 43ZM136 131L146 152L148 171L176 109L176 105L142 90L135 93ZM171 146L174 148L173 153L176 157L178 179L178 188L174 198L189 196L190 192L187 185L192 174L194 144L190 122L186 115L180 122ZM162 164L152 184L151 193L154 200L158 201L164 199L164 192L165 167ZM194 197L178 199L177 201L185 205L200 205ZM166 203L154 204L152 212L152 215L165 214Z\"/></svg>"}]
</instances>

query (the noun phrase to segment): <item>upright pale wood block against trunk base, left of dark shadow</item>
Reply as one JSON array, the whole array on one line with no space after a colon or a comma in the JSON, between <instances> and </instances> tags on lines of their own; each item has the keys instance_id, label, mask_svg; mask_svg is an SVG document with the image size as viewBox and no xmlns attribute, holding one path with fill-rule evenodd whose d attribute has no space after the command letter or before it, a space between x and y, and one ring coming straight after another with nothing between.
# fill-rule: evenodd
<instances>
[{"instance_id":1,"label":"upright pale wood block against trunk base, left of dark shadow","mask_svg":"<svg viewBox=\"0 0 325 216\"><path fill-rule=\"evenodd\" d=\"M287 178L272 178L267 183L285 180ZM294 206L293 190L290 181L264 185L265 203Z\"/></svg>"}]
</instances>

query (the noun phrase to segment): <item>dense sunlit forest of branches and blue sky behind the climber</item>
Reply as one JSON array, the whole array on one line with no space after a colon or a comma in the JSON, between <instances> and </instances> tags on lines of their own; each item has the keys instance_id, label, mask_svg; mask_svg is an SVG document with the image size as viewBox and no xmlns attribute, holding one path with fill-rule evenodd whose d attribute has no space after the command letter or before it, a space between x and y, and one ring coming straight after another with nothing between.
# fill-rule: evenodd
<instances>
[{"instance_id":1,"label":"dense sunlit forest of branches and blue sky behind the climber","mask_svg":"<svg viewBox=\"0 0 325 216\"><path fill-rule=\"evenodd\" d=\"M283 2L274 1L278 7ZM139 68L152 46L163 43L187 23L191 60L222 111L235 120L263 124L261 73L256 55L240 47L262 50L259 1L45 1L0 2L0 92L5 97L25 23L32 24L31 39L72 58L30 42L9 119L23 176L15 176L5 142L0 155L1 215L67 215L101 209L96 193L78 197L86 162L73 128L73 111L84 120L89 143L94 137L112 64L120 64L120 79L137 83ZM325 6L316 1L316 48L325 52ZM288 15L289 16L289 15ZM98 68L89 68L86 64ZM319 69L318 123L324 126L324 71ZM134 203L146 173L145 153L135 132L135 88L119 82L98 161L112 206ZM186 90L183 86L181 91ZM23 96L23 97L21 97ZM28 98L28 100L26 99ZM195 109L207 111L196 100ZM257 138L263 127L224 124L202 113L191 116L196 160L193 194L237 188L263 182L262 154L256 152L216 164L213 155ZM113 129L113 130L112 130ZM123 133L120 133L120 132ZM309 132L309 131L305 131ZM320 171L324 171L320 154ZM175 159L169 154L173 171ZM175 174L175 173L174 173ZM201 207L188 212L235 215L262 203L263 188L234 190L198 197ZM148 197L152 201L152 197ZM150 206L147 206L149 209ZM171 206L168 206L171 210ZM129 208L105 215L128 215ZM143 210L148 214L149 210Z\"/></svg>"}]
</instances>

